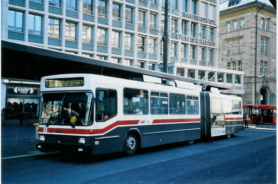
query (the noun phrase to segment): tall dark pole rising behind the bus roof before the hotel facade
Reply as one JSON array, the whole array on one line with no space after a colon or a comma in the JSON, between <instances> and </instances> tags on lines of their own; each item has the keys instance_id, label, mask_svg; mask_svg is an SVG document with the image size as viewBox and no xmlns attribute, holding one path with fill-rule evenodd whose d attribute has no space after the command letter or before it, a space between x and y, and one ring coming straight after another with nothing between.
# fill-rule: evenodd
<instances>
[{"instance_id":1,"label":"tall dark pole rising behind the bus roof before the hotel facade","mask_svg":"<svg viewBox=\"0 0 278 184\"><path fill-rule=\"evenodd\" d=\"M167 62L168 62L168 0L165 0L165 15L164 15L164 35L163 41L163 72L167 73Z\"/></svg>"}]
</instances>

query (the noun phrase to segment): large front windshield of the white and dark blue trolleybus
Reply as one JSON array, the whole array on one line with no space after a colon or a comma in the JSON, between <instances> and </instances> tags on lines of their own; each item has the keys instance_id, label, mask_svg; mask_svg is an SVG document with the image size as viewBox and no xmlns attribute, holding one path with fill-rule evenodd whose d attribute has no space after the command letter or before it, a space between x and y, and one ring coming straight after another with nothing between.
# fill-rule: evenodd
<instances>
[{"instance_id":1,"label":"large front windshield of the white and dark blue trolleybus","mask_svg":"<svg viewBox=\"0 0 278 184\"><path fill-rule=\"evenodd\" d=\"M48 93L43 94L42 124L86 126L93 122L93 94Z\"/></svg>"}]
</instances>

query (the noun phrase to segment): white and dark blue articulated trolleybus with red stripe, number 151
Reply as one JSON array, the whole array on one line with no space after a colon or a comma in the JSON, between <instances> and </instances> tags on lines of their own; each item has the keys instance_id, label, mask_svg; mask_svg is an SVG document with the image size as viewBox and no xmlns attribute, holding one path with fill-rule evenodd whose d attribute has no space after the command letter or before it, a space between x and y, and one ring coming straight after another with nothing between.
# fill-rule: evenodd
<instances>
[{"instance_id":1,"label":"white and dark blue articulated trolleybus with red stripe, number 151","mask_svg":"<svg viewBox=\"0 0 278 184\"><path fill-rule=\"evenodd\" d=\"M178 80L167 85L144 76L144 81L94 74L43 77L37 149L132 155L139 148L229 138L244 130L240 97L202 92Z\"/></svg>"}]
</instances>

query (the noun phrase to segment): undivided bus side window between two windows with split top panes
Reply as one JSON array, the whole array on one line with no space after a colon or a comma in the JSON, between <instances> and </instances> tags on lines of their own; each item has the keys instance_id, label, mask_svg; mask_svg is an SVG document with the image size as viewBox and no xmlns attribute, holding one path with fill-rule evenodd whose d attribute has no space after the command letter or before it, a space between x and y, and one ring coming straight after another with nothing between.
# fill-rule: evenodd
<instances>
[{"instance_id":1,"label":"undivided bus side window between two windows with split top panes","mask_svg":"<svg viewBox=\"0 0 278 184\"><path fill-rule=\"evenodd\" d=\"M169 94L170 114L185 114L185 95Z\"/></svg>"}]
</instances>

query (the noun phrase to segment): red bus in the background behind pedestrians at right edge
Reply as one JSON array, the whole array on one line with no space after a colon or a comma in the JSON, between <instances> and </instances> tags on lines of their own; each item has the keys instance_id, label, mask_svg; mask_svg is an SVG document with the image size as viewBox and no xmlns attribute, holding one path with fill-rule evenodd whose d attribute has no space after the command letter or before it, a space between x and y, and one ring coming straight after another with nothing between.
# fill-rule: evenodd
<instances>
[{"instance_id":1,"label":"red bus in the background behind pedestrians at right edge","mask_svg":"<svg viewBox=\"0 0 278 184\"><path fill-rule=\"evenodd\" d=\"M260 124L276 124L276 106L272 105L242 105L244 114L248 114L249 123L255 123L255 115L260 115Z\"/></svg>"}]
</instances>

